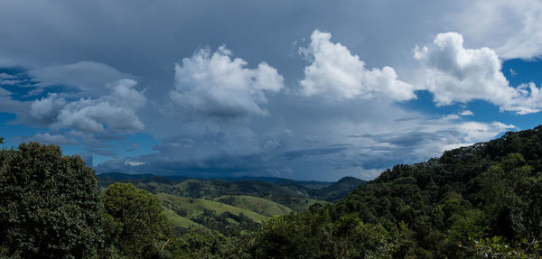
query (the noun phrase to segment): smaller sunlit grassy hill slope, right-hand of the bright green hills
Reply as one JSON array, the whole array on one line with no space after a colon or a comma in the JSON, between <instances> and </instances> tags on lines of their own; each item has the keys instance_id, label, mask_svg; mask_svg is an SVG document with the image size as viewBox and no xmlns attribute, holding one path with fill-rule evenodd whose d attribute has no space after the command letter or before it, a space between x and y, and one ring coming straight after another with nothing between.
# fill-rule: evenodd
<instances>
[{"instance_id":1,"label":"smaller sunlit grassy hill slope, right-hand of the bright green hills","mask_svg":"<svg viewBox=\"0 0 542 259\"><path fill-rule=\"evenodd\" d=\"M245 208L267 217L285 215L292 212L291 208L287 208L274 201L247 195L224 195L214 199L214 201L226 203L237 208Z\"/></svg>"}]
</instances>

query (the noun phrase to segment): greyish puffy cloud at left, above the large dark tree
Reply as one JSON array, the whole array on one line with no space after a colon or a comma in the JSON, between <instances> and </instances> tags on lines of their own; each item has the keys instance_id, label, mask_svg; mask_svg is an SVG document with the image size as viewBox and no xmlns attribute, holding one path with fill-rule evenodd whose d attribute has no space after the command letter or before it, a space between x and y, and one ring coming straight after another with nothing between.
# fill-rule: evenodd
<instances>
[{"instance_id":1,"label":"greyish puffy cloud at left, above the large dark tree","mask_svg":"<svg viewBox=\"0 0 542 259\"><path fill-rule=\"evenodd\" d=\"M73 129L90 133L134 133L144 129L136 111L144 107L143 92L135 90L132 79L109 85L111 93L98 98L69 101L51 94L33 102L31 115L49 122L52 129Z\"/></svg>"}]
</instances>

